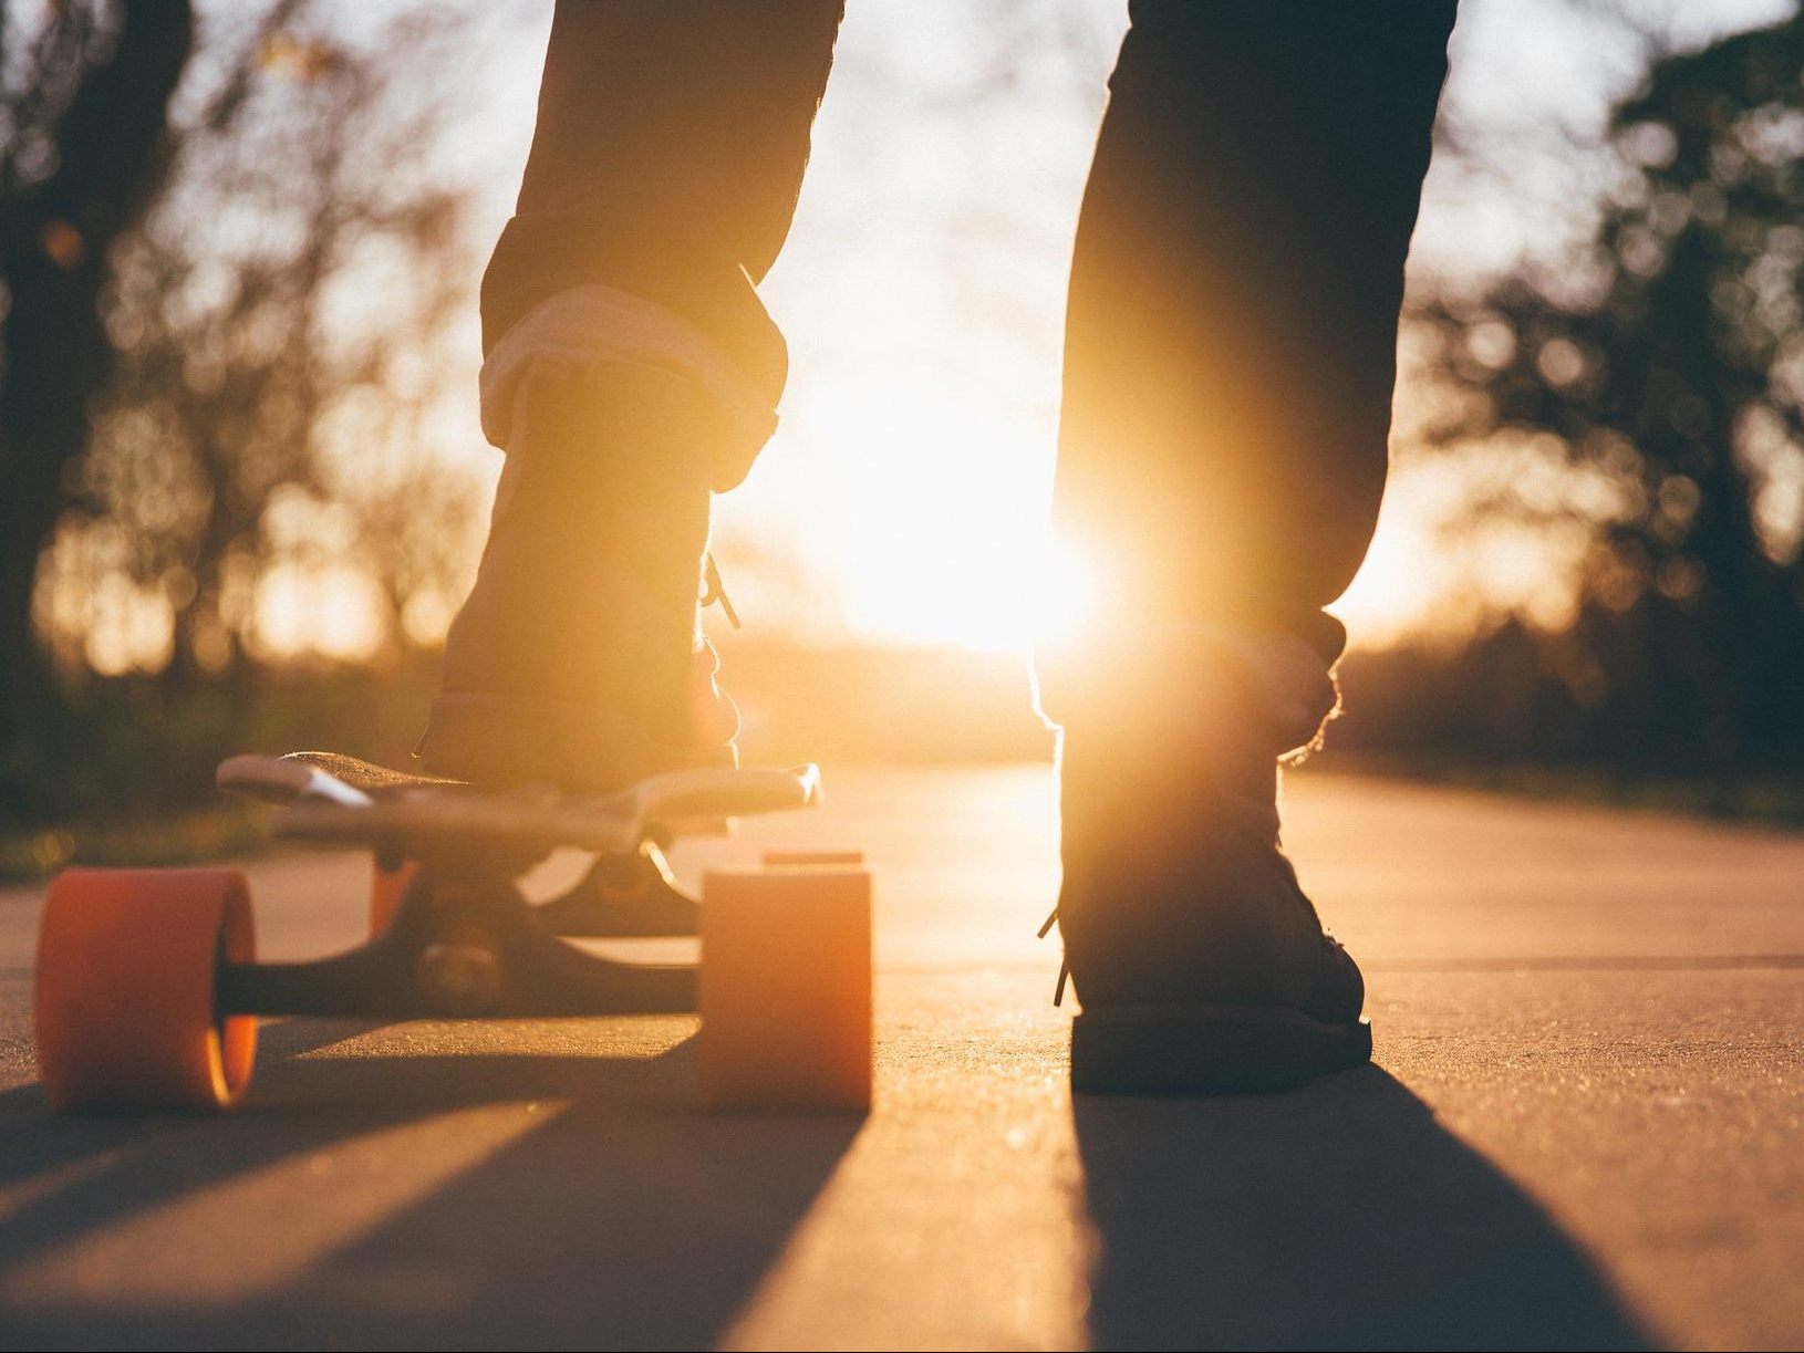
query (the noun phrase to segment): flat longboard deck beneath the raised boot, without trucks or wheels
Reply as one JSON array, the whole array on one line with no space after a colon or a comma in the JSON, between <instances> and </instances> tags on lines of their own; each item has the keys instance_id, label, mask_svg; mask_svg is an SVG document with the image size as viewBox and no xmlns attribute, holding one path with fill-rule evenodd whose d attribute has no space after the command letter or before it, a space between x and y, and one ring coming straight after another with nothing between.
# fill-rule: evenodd
<instances>
[{"instance_id":1,"label":"flat longboard deck beneath the raised boot, without trucks or wheels","mask_svg":"<svg viewBox=\"0 0 1804 1353\"><path fill-rule=\"evenodd\" d=\"M617 794L577 796L483 790L337 752L290 752L235 756L220 763L216 779L276 803L269 826L280 837L395 846L411 855L557 846L630 853L660 830L686 835L722 819L806 808L819 799L821 772L812 765L671 770Z\"/></svg>"}]
</instances>

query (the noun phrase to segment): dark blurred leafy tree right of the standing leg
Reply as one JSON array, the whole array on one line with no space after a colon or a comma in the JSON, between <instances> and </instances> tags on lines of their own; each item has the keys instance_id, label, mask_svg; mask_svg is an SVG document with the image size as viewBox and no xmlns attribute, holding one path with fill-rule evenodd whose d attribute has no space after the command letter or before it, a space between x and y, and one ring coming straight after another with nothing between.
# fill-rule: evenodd
<instances>
[{"instance_id":1,"label":"dark blurred leafy tree right of the standing leg","mask_svg":"<svg viewBox=\"0 0 1804 1353\"><path fill-rule=\"evenodd\" d=\"M1591 249L1416 319L1427 438L1566 467L1483 512L1593 527L1544 660L1593 752L1804 752L1804 18L1654 63ZM1571 734L1571 729L1566 729Z\"/></svg>"}]
</instances>

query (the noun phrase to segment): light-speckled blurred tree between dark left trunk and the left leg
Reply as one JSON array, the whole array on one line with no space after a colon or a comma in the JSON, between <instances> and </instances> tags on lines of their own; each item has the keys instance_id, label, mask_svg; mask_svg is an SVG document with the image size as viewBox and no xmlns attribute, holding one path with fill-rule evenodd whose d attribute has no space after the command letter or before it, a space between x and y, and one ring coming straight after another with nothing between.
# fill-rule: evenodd
<instances>
[{"instance_id":1,"label":"light-speckled blurred tree between dark left trunk and the left leg","mask_svg":"<svg viewBox=\"0 0 1804 1353\"><path fill-rule=\"evenodd\" d=\"M254 595L278 572L314 588L294 604L377 612L348 624L382 639L456 590L473 494L426 424L473 271L465 195L426 153L449 90L417 78L444 23L397 9L352 45L281 20L216 40L229 108L207 88L211 112L177 117L171 182L114 251L117 372L40 570L72 671L242 675L272 657Z\"/></svg>"}]
</instances>

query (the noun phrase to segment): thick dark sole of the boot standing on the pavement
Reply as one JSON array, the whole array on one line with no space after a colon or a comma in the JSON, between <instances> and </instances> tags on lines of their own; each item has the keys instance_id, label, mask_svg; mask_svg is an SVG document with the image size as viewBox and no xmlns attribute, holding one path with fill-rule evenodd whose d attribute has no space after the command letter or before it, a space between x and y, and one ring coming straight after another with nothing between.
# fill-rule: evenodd
<instances>
[{"instance_id":1,"label":"thick dark sole of the boot standing on the pavement","mask_svg":"<svg viewBox=\"0 0 1804 1353\"><path fill-rule=\"evenodd\" d=\"M1369 1061L1369 1019L1328 1025L1283 1008L1140 1005L1072 1021L1072 1090L1081 1095L1295 1090Z\"/></svg>"}]
</instances>

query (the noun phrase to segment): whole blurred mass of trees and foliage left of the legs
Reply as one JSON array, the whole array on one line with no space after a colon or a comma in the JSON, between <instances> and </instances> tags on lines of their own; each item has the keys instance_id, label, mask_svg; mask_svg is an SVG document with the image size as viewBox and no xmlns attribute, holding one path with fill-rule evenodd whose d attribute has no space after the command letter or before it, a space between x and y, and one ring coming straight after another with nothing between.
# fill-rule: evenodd
<instances>
[{"instance_id":1,"label":"whole blurred mass of trees and foliage left of the legs","mask_svg":"<svg viewBox=\"0 0 1804 1353\"><path fill-rule=\"evenodd\" d=\"M271 671L294 658L272 592L303 635L352 603L373 669L328 680L341 702L429 662L478 494L435 447L474 308L465 193L431 153L455 14L395 5L352 40L307 0L18 9L0 817L29 823L206 796L213 759L307 723L265 709L301 689Z\"/></svg>"}]
</instances>

